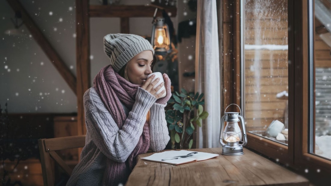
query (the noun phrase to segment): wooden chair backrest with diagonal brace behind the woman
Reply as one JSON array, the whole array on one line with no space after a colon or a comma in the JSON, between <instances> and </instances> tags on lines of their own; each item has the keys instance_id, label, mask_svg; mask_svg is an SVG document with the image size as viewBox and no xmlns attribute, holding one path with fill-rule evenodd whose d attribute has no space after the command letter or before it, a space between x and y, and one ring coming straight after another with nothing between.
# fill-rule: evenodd
<instances>
[{"instance_id":1,"label":"wooden chair backrest with diagonal brace behind the woman","mask_svg":"<svg viewBox=\"0 0 331 186\"><path fill-rule=\"evenodd\" d=\"M86 135L79 135L38 140L44 186L53 186L55 182L51 158L71 176L72 169L55 151L84 147L85 137Z\"/></svg>"}]
</instances>

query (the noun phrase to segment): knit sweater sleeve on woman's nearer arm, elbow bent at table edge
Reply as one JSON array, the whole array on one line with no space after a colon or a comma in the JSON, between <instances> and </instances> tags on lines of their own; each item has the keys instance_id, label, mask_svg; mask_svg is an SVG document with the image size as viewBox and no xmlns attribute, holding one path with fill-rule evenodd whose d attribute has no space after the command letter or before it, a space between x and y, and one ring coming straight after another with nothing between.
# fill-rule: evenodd
<instances>
[{"instance_id":1,"label":"knit sweater sleeve on woman's nearer arm, elbow bent at table edge","mask_svg":"<svg viewBox=\"0 0 331 186\"><path fill-rule=\"evenodd\" d=\"M86 129L91 133L92 141L108 158L125 162L139 141L147 112L155 101L152 94L138 88L136 102L119 130L98 93L89 89L84 94L84 108Z\"/></svg>"}]
</instances>

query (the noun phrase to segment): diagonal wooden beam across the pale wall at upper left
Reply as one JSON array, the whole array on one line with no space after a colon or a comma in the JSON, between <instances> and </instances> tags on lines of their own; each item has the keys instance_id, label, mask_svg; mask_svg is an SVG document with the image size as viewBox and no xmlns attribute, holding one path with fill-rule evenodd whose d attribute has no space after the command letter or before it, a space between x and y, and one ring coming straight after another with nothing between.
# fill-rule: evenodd
<instances>
[{"instance_id":1,"label":"diagonal wooden beam across the pale wall at upper left","mask_svg":"<svg viewBox=\"0 0 331 186\"><path fill-rule=\"evenodd\" d=\"M52 45L49 43L47 38L44 36L42 31L38 28L37 24L31 19L29 14L25 11L24 7L18 0L7 0L8 4L12 7L12 9L16 11L20 11L22 14L22 20L29 30L30 34L34 38L34 40L38 43L40 48L44 51L49 60L53 63L55 68L59 71L61 76L67 82L73 93L76 93L76 78L71 73L70 69L66 65L66 63L61 59L59 54L55 51Z\"/></svg>"}]
</instances>

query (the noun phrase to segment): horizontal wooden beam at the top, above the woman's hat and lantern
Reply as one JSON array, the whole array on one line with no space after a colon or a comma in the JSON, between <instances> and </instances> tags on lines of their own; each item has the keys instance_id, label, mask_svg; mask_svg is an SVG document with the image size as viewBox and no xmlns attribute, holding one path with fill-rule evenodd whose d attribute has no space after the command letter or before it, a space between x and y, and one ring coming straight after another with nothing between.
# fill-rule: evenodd
<instances>
[{"instance_id":1,"label":"horizontal wooden beam at the top, above the woman's hat and lantern","mask_svg":"<svg viewBox=\"0 0 331 186\"><path fill-rule=\"evenodd\" d=\"M167 13L170 13L170 17L176 17L177 8L167 7L165 8ZM155 7L145 5L90 5L89 13L90 17L150 17L153 18ZM162 11L157 12L157 16L162 16Z\"/></svg>"}]
</instances>

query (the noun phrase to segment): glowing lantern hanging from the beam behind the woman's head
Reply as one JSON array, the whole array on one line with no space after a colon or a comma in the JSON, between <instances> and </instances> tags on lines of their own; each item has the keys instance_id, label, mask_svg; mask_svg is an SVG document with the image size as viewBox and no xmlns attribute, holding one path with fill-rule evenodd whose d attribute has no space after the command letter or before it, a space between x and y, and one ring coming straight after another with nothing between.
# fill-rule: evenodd
<instances>
[{"instance_id":1,"label":"glowing lantern hanging from the beam behind the woman's head","mask_svg":"<svg viewBox=\"0 0 331 186\"><path fill-rule=\"evenodd\" d=\"M166 55L170 49L169 28L164 18L154 19L151 44L157 55Z\"/></svg>"}]
</instances>

